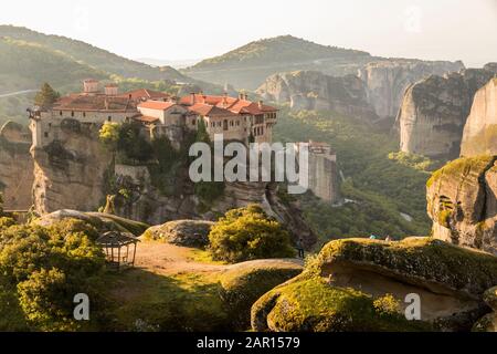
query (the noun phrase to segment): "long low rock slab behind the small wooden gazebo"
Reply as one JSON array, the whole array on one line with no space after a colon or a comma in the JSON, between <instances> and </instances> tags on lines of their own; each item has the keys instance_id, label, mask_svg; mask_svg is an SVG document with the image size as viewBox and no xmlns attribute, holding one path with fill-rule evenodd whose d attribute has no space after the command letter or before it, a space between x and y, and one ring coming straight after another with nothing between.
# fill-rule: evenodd
<instances>
[{"instance_id":1,"label":"long low rock slab behind the small wooden gazebo","mask_svg":"<svg viewBox=\"0 0 497 354\"><path fill-rule=\"evenodd\" d=\"M43 227L52 226L61 220L77 219L93 226L98 232L123 231L140 236L147 230L148 225L135 220L125 219L110 214L83 212L77 210L62 209L34 220L33 222Z\"/></svg>"}]
</instances>

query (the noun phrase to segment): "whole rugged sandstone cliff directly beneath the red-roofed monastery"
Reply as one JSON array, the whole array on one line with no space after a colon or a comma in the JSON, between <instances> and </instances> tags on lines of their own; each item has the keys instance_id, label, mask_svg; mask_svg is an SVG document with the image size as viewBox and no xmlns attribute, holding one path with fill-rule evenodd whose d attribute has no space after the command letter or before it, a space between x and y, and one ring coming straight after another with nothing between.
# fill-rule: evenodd
<instances>
[{"instance_id":1,"label":"whole rugged sandstone cliff directly beneath the red-roofed monastery","mask_svg":"<svg viewBox=\"0 0 497 354\"><path fill-rule=\"evenodd\" d=\"M261 204L268 215L284 222L295 238L302 237L306 246L316 241L300 211L293 205L281 202L266 183L226 183L223 195L205 206L194 192L188 166L182 166L170 178L172 191L165 194L154 185L148 165L113 163L112 154L98 139L97 126L68 121L60 127L51 127L56 139L31 149L34 206L40 215L60 209L95 211L104 205L107 194L125 190L126 198L116 192L112 209L133 220L150 225L179 219L212 220L229 209ZM114 191L109 191L110 184Z\"/></svg>"}]
</instances>

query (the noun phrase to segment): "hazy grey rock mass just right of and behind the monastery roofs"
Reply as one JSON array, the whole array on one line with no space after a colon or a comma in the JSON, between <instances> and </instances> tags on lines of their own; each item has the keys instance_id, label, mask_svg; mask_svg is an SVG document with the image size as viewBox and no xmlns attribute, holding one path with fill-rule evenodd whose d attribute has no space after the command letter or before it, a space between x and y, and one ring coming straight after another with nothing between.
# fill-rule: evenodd
<instances>
[{"instance_id":1,"label":"hazy grey rock mass just right of and behind the monastery roofs","mask_svg":"<svg viewBox=\"0 0 497 354\"><path fill-rule=\"evenodd\" d=\"M316 71L275 74L257 88L265 100L293 110L335 111L364 119L376 117L364 83L355 75L334 77Z\"/></svg>"}]
</instances>

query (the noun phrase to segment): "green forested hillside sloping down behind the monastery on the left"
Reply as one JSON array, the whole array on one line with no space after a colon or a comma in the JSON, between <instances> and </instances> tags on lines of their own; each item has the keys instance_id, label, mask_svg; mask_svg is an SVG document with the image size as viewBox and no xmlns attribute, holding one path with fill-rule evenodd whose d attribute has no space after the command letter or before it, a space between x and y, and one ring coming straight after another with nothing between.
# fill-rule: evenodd
<instances>
[{"instance_id":1,"label":"green forested hillside sloping down behind the monastery on the left","mask_svg":"<svg viewBox=\"0 0 497 354\"><path fill-rule=\"evenodd\" d=\"M61 93L78 91L87 77L117 81L123 91L222 91L171 66L152 67L65 37L0 25L0 124L7 119L25 123L25 108L34 94L20 92L36 90L44 82Z\"/></svg>"}]
</instances>

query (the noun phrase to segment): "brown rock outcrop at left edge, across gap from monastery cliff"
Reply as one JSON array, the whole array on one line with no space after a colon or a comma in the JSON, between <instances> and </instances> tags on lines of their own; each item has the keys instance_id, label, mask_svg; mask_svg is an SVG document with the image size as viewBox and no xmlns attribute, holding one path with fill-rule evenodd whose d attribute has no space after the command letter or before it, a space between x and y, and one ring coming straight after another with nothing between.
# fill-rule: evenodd
<instances>
[{"instance_id":1,"label":"brown rock outcrop at left edge, across gap from monastery cliff","mask_svg":"<svg viewBox=\"0 0 497 354\"><path fill-rule=\"evenodd\" d=\"M0 129L0 191L4 209L31 208L34 164L30 155L31 134L27 127L7 122Z\"/></svg>"}]
</instances>

